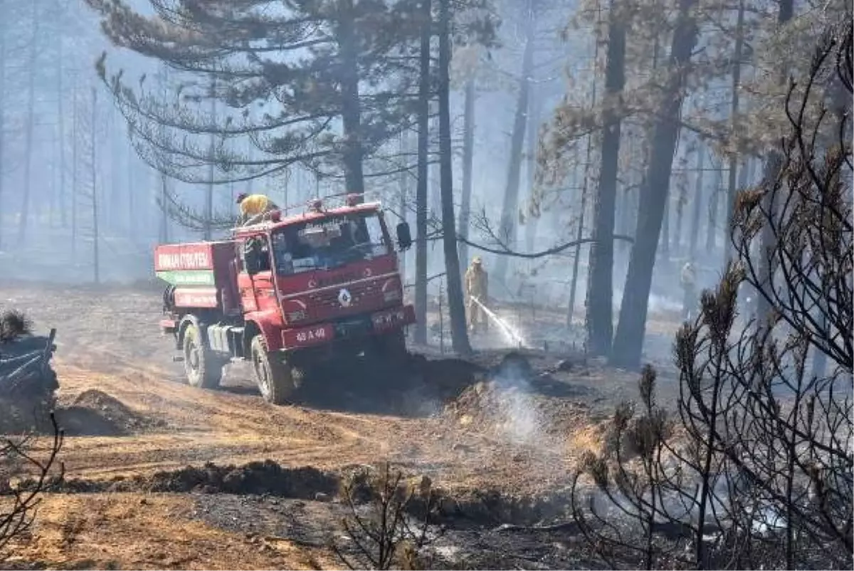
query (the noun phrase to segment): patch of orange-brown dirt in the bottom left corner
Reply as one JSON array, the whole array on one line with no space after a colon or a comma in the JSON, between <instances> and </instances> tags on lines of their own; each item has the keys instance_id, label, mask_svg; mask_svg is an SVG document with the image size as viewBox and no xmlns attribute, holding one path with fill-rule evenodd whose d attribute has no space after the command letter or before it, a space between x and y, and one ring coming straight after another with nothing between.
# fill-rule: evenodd
<instances>
[{"instance_id":1,"label":"patch of orange-brown dirt in the bottom left corner","mask_svg":"<svg viewBox=\"0 0 854 571\"><path fill-rule=\"evenodd\" d=\"M79 568L335 569L322 550L227 533L194 520L190 498L141 494L49 495L26 562Z\"/></svg>"}]
</instances>

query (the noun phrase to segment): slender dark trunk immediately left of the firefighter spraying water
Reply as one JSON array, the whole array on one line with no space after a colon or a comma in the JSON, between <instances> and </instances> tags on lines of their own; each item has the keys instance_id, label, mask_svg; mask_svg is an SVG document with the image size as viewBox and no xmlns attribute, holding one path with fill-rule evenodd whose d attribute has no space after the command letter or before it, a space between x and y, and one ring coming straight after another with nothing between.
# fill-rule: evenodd
<instances>
[{"instance_id":1,"label":"slender dark trunk immediately left of the firefighter spraying water","mask_svg":"<svg viewBox=\"0 0 854 571\"><path fill-rule=\"evenodd\" d=\"M439 3L439 160L442 174L442 243L445 250L447 304L451 313L453 350L457 355L471 354L465 327L463 280L459 272L457 233L453 221L453 150L451 148L451 0Z\"/></svg>"}]
</instances>

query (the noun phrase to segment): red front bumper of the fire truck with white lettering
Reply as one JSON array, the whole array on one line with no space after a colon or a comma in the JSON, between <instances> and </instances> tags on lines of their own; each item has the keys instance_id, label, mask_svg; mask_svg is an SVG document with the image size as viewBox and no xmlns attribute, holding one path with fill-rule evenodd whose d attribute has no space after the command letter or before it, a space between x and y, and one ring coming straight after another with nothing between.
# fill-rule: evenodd
<instances>
[{"instance_id":1,"label":"red front bumper of the fire truck with white lettering","mask_svg":"<svg viewBox=\"0 0 854 571\"><path fill-rule=\"evenodd\" d=\"M295 350L389 333L412 323L415 323L415 309L412 305L403 305L330 323L285 329L282 332L282 344L284 350Z\"/></svg>"}]
</instances>

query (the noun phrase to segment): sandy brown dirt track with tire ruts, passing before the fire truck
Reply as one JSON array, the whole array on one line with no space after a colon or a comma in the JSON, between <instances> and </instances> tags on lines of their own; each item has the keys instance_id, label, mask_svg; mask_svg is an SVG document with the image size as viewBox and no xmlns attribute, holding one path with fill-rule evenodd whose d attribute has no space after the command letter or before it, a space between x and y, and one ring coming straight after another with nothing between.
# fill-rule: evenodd
<instances>
[{"instance_id":1,"label":"sandy brown dirt track with tire ruts, passing before the fire truck","mask_svg":"<svg viewBox=\"0 0 854 571\"><path fill-rule=\"evenodd\" d=\"M171 362L173 345L157 330L159 292L0 286L0 309L5 306L26 311L38 329L57 327L61 403L73 403L85 391L102 391L162 423L131 436L68 437L62 459L69 477L267 458L283 466L330 470L388 460L444 486L535 493L565 486L573 459L582 451L571 434L548 444L511 444L442 415L407 418L273 407L237 368L224 390L186 386L182 367ZM357 382L338 385L346 393L358 392Z\"/></svg>"}]
</instances>

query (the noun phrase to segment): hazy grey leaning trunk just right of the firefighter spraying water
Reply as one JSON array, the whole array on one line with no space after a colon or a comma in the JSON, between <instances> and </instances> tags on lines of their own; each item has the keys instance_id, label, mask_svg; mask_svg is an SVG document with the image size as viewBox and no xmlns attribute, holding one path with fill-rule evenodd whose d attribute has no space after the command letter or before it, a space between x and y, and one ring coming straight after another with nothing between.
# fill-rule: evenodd
<instances>
[{"instance_id":1,"label":"hazy grey leaning trunk just right of the firefighter spraying water","mask_svg":"<svg viewBox=\"0 0 854 571\"><path fill-rule=\"evenodd\" d=\"M522 55L522 78L519 81L519 96L516 102L516 114L513 116L513 132L510 138L510 159L507 163L507 183L504 191L504 203L501 206L501 224L499 236L512 248L516 240L516 219L518 218L519 176L522 174L522 149L525 140L525 121L528 118L528 98L530 93L530 75L534 69L534 10L531 2L526 5L525 48ZM507 277L508 256L499 256L495 262L494 280L505 283Z\"/></svg>"}]
</instances>

